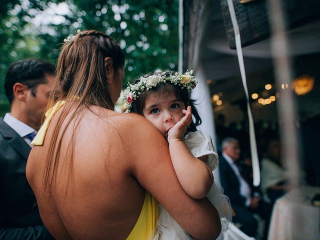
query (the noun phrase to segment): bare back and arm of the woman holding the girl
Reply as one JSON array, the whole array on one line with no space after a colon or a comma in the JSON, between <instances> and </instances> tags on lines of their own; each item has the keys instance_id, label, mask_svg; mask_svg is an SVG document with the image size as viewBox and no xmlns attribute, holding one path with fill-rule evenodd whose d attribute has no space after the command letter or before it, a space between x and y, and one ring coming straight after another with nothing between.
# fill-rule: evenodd
<instances>
[{"instance_id":1,"label":"bare back and arm of the woman holding the girl","mask_svg":"<svg viewBox=\"0 0 320 240\"><path fill-rule=\"evenodd\" d=\"M135 114L91 110L97 115L82 112L75 131L72 168L70 157L64 157L72 127L66 130L51 190L44 194L41 188L44 156L60 111L52 118L43 146L34 146L27 162L27 179L41 218L55 238L125 239L140 214L144 189L196 238L219 234L215 208L207 199L185 194L167 142L153 125Z\"/></svg>"}]
</instances>

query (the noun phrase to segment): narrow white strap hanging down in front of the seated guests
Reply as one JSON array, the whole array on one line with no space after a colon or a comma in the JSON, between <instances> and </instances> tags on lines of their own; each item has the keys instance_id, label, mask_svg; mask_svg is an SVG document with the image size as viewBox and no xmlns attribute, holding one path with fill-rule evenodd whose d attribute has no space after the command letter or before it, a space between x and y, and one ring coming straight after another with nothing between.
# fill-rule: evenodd
<instances>
[{"instance_id":1,"label":"narrow white strap hanging down in front of the seated guests","mask_svg":"<svg viewBox=\"0 0 320 240\"><path fill-rule=\"evenodd\" d=\"M229 8L231 21L232 21L232 25L233 25L233 30L234 30L235 47L236 47L236 53L238 56L242 84L243 84L243 88L244 88L245 96L246 96L246 105L247 105L248 118L249 118L249 137L250 137L251 160L252 160L252 169L253 169L253 185L258 186L260 184L259 160L258 160L258 154L257 154L257 150L256 150L256 141L255 141L252 113L251 113L251 108L250 108L250 103L249 103L248 88L246 85L243 55L242 55L242 48L241 48L240 31L239 31L239 26L238 26L236 16L235 16L233 2L232 2L232 0L227 0L227 3L228 3L228 8Z\"/></svg>"}]
</instances>

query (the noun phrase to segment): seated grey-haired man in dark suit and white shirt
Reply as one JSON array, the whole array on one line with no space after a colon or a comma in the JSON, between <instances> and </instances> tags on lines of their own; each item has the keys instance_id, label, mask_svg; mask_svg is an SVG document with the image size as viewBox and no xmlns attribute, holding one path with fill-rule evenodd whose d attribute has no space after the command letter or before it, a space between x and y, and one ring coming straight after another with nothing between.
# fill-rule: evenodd
<instances>
[{"instance_id":1,"label":"seated grey-haired man in dark suit and white shirt","mask_svg":"<svg viewBox=\"0 0 320 240\"><path fill-rule=\"evenodd\" d=\"M257 221L253 213L265 220L263 238L266 239L272 206L260 198L260 191L247 182L238 164L240 147L238 140L227 137L222 141L222 154L219 157L220 181L224 194L230 199L235 212L233 221L241 224L240 229L249 236L255 236Z\"/></svg>"}]
</instances>

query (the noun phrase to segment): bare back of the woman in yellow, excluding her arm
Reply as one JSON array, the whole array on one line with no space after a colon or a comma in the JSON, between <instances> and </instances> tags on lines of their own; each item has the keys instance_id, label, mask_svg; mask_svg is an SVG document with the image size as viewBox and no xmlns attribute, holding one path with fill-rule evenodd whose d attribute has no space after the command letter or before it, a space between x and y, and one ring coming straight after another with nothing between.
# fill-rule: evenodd
<instances>
[{"instance_id":1,"label":"bare back of the woman in yellow, excluding her arm","mask_svg":"<svg viewBox=\"0 0 320 240\"><path fill-rule=\"evenodd\" d=\"M100 118L91 111L84 112L76 130L71 174L70 159L64 159L67 146L70 147L69 128L62 140L57 181L52 190L43 195L40 184L34 185L41 182L42 176L29 174L30 169L44 171L43 153L58 114L50 123L43 146L34 146L28 159L28 180L35 190L44 224L58 239L125 238L139 216L144 189L127 174L127 156L116 133L117 120L113 119L117 113L105 111L105 118Z\"/></svg>"}]
</instances>

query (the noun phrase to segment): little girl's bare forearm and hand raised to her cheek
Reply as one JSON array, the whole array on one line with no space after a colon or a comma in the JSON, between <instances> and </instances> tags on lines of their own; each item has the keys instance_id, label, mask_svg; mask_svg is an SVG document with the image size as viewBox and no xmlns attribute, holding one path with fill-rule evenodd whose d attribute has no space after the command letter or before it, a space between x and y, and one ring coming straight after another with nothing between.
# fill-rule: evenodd
<instances>
[{"instance_id":1,"label":"little girl's bare forearm and hand raised to her cheek","mask_svg":"<svg viewBox=\"0 0 320 240\"><path fill-rule=\"evenodd\" d=\"M173 168L184 191L192 198L203 198L213 183L213 174L208 165L190 152L182 138L191 123L191 107L168 132L170 157Z\"/></svg>"}]
</instances>

